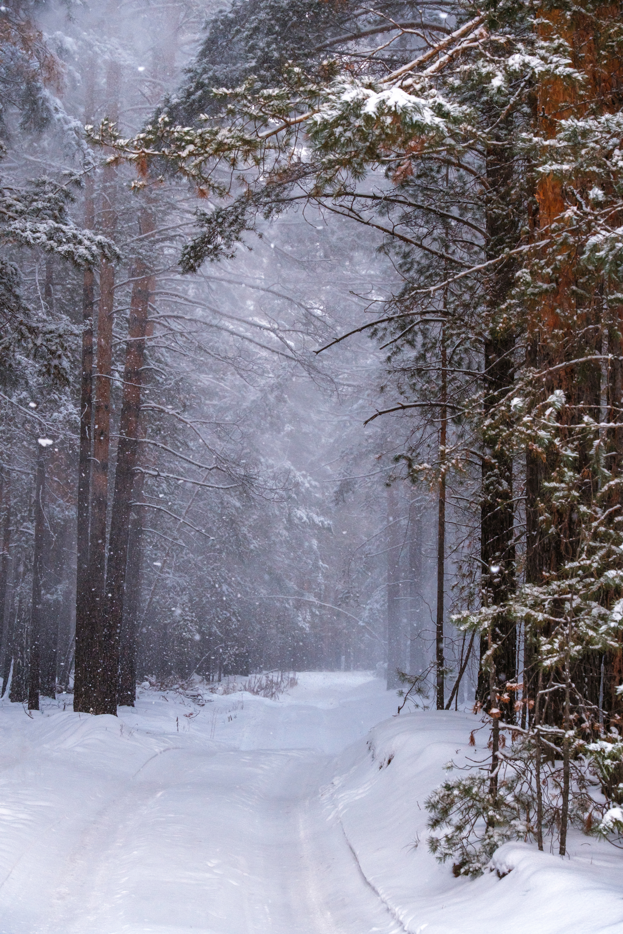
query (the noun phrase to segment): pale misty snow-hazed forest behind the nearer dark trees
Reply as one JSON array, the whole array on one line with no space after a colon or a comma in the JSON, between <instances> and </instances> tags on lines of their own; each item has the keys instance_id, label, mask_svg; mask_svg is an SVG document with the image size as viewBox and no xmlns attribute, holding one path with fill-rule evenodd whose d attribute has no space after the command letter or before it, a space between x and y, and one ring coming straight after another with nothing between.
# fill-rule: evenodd
<instances>
[{"instance_id":1,"label":"pale misty snow-hazed forest behind the nearer dark trees","mask_svg":"<svg viewBox=\"0 0 623 934\"><path fill-rule=\"evenodd\" d=\"M16 184L66 171L94 179L94 227L106 229L122 258L115 274L113 426L132 261L141 250L156 257L142 489L135 497L141 505L133 512L126 598L138 632L138 680L220 679L275 669L372 669L384 677L388 619L399 630L400 667L428 672L436 489L408 480L400 458L418 451L426 460L439 443L437 427L434 419L421 423L418 410L364 426L396 398L404 378L400 361L389 362L378 340L356 334L315 353L379 314L400 289L395 266L378 251L381 235L318 210L292 208L265 222L261 236L249 234L234 259L182 276L177 261L194 211L213 203L199 204L184 185L163 177L149 193L158 224L146 242L134 170L106 170L106 178L104 154L89 149L82 126L109 117L122 134L139 130L163 96L175 94L205 19L220 7L97 2L90 9L72 6L70 15L64 7L47 7L39 8L38 23L57 57L49 92L55 118L24 129L7 107L3 168ZM82 224L84 190L75 197L72 213ZM68 318L78 333L79 271L36 250L18 262L31 304ZM44 604L64 689L75 625L79 406L79 371L69 365L75 378L68 389L52 387L25 360L7 377L11 397L46 420L54 442ZM5 496L12 505L0 657L6 686L12 646L18 652L27 638L40 429L15 405L3 407L2 419L3 466L10 472ZM117 431L111 429L111 476ZM206 472L214 464L216 472ZM456 672L464 637L450 616L460 595L461 605L466 593L469 604L477 568L461 563L475 541L470 478L448 475L447 483L446 665ZM467 672L460 702L473 690L474 672Z\"/></svg>"}]
</instances>

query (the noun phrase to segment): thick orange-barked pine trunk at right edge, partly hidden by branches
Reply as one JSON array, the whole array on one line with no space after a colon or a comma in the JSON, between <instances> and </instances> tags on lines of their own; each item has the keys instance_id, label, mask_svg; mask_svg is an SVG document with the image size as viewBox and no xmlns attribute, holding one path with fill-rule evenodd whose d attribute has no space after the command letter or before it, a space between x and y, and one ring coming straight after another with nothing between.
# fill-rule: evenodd
<instances>
[{"instance_id":1,"label":"thick orange-barked pine trunk at right edge, partly hidden by branches","mask_svg":"<svg viewBox=\"0 0 623 934\"><path fill-rule=\"evenodd\" d=\"M540 40L548 43L561 37L568 44L573 67L582 74L582 81L576 83L567 83L558 75L547 76L539 81L533 120L537 131L545 139L553 139L559 132L561 121L568 120L571 113L581 120L587 114L597 117L619 109L623 67L614 47L608 48L611 28L618 28L619 21L620 9L615 5L574 7L572 12L559 6L544 8L537 26ZM616 319L612 321L610 315L614 309L604 306L600 289L588 285L586 279L578 279L576 257L582 252L583 243L580 240L573 243L574 234L570 239L566 232L561 235L560 230L567 223L570 205L573 209L576 199L585 197L592 185L593 179L589 174L583 176L575 173L573 180L565 181L564 186L557 175L542 174L535 192L538 219L535 222L534 238L549 238L554 233L558 235L559 246L550 248L547 271L542 274L546 288L535 305L529 341L531 345L538 346L540 362L551 368L551 375L548 375L544 384L544 397L555 389L564 392L567 404L559 417L562 447L565 432L573 432L585 416L597 417L598 422L601 420L601 367L591 361L573 361L602 353L604 337L608 339L609 352L614 351L614 365L609 367L607 373L608 382L612 381L606 392L606 404L610 409L608 419L615 424L620 419L620 415L616 413L615 416L613 410L620 407L616 403L620 395L620 363L616 363L620 357L619 322ZM610 328L608 322L614 327ZM554 372L554 367L560 363L570 365L562 366L558 372ZM608 463L615 473L618 471L619 446L619 431L613 427L607 432L606 447ZM590 505L598 488L598 478L592 467L589 446L579 444L577 450L576 488L581 502ZM560 469L561 457L557 459L553 453L548 453L541 467L540 490L545 511L552 518L548 534L543 536L540 543L543 551L540 563L548 576L556 573L562 563L573 561L581 535L579 510L574 503L567 502L563 506L560 502L554 502L546 487L546 481ZM614 485L612 493L616 499ZM542 582L543 573L540 578ZM559 615L563 612L561 606L555 605L554 610ZM547 634L545 628L545 637ZM607 656L608 663L614 661L617 654L620 655L613 653ZM584 694L588 703L595 705L599 704L602 680L600 663L599 654L587 655L578 664L573 664L570 674L573 684ZM609 664L605 667L609 668ZM565 679L566 674L559 672L559 684ZM607 680L606 672L604 680ZM559 689L544 705L544 722L560 724L565 717L565 703L563 691Z\"/></svg>"}]
</instances>

